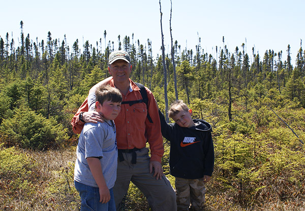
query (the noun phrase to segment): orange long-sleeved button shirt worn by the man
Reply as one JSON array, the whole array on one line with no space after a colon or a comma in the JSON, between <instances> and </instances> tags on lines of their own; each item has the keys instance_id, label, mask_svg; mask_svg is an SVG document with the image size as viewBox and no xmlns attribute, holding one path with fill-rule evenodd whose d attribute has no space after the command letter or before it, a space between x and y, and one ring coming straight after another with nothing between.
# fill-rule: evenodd
<instances>
[{"instance_id":1,"label":"orange long-sleeved button shirt worn by the man","mask_svg":"<svg viewBox=\"0 0 305 211\"><path fill-rule=\"evenodd\" d=\"M123 101L131 101L142 99L139 87L130 80L133 91L123 95ZM113 79L110 86L114 87ZM146 88L146 87L145 87ZM148 97L148 113L153 123L148 121L147 108L144 102L135 103L133 105L122 104L121 111L115 118L116 141L118 149L134 149L144 148L148 141L151 161L161 163L161 157L164 154L163 139L161 134L161 125L158 114L158 107L153 93L146 88ZM80 133L84 123L79 121L79 114L88 111L87 98L74 115L71 124L75 133Z\"/></svg>"}]
</instances>

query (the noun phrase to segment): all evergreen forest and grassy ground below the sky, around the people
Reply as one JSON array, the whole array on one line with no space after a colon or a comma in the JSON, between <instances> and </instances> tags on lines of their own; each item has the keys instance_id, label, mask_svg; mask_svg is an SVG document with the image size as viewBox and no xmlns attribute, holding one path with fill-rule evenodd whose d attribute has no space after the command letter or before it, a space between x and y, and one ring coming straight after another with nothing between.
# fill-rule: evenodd
<instances>
[{"instance_id":1,"label":"all evergreen forest and grassy ground below the sky, around the people","mask_svg":"<svg viewBox=\"0 0 305 211\"><path fill-rule=\"evenodd\" d=\"M193 118L212 126L215 171L206 185L206 210L305 210L305 51L290 57L216 47L159 55L151 41L118 35L107 41L33 39L0 34L0 209L78 210L73 173L78 135L71 120L89 89L109 77L108 56L130 53L131 79L148 87L164 114L184 100ZM32 36L32 35L31 35ZM33 34L35 36L35 34ZM105 43L104 43L105 42ZM263 50L263 49L261 49ZM296 53L296 52L294 52ZM171 121L171 120L169 120ZM162 160L169 174L169 143ZM130 185L128 210L149 210Z\"/></svg>"}]
</instances>

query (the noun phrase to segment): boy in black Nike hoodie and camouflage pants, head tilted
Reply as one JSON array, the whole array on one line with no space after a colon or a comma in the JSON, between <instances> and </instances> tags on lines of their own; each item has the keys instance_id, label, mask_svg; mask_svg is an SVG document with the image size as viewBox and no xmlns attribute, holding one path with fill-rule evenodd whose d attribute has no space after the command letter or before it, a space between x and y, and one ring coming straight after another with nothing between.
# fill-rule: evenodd
<instances>
[{"instance_id":1,"label":"boy in black Nike hoodie and camouflage pants, head tilted","mask_svg":"<svg viewBox=\"0 0 305 211\"><path fill-rule=\"evenodd\" d=\"M203 210L205 183L214 170L214 146L211 126L192 119L192 110L182 101L171 104L168 124L161 111L161 131L170 141L170 173L175 177L177 210Z\"/></svg>"}]
</instances>

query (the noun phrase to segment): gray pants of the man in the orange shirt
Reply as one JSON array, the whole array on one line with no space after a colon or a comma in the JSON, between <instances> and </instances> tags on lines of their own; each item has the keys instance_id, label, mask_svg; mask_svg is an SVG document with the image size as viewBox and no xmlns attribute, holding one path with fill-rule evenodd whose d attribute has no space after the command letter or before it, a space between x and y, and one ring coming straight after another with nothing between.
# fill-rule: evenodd
<instances>
[{"instance_id":1,"label":"gray pants of the man in the orange shirt","mask_svg":"<svg viewBox=\"0 0 305 211\"><path fill-rule=\"evenodd\" d=\"M117 162L116 182L113 187L116 209L120 210L121 201L131 181L142 191L152 210L176 211L176 194L168 179L163 175L162 180L156 180L153 177L154 172L149 173L148 149L140 149L136 154L136 164L132 164L132 153L124 152L124 161Z\"/></svg>"}]
</instances>

